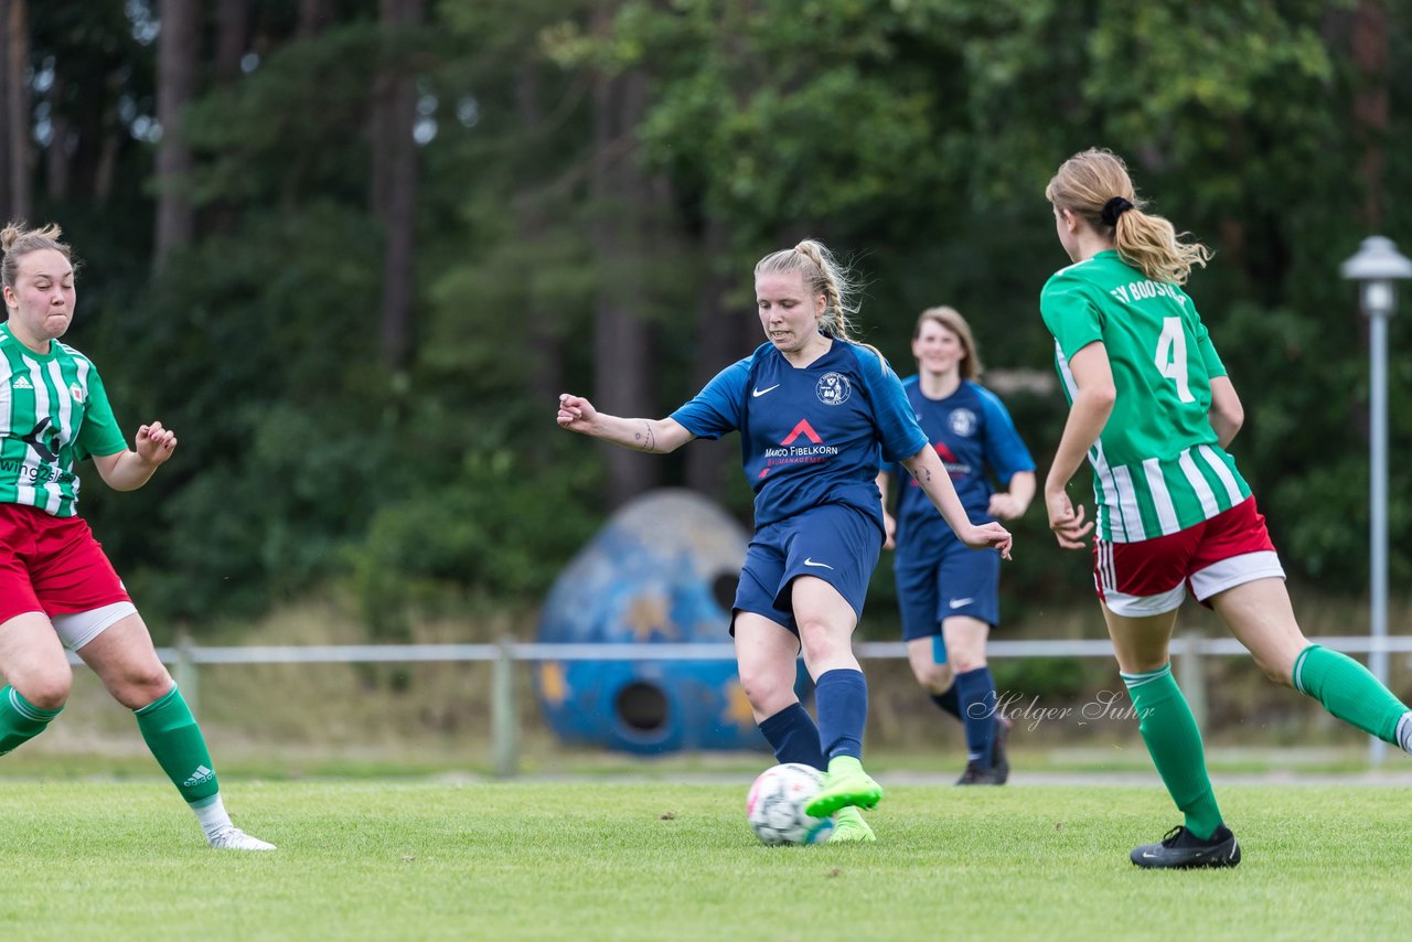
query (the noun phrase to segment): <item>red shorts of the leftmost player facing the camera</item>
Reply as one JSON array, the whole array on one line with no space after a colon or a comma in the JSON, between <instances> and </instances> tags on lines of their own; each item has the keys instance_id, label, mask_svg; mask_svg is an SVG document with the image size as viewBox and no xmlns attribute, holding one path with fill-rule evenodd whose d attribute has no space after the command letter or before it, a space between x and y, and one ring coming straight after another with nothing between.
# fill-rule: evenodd
<instances>
[{"instance_id":1,"label":"red shorts of the leftmost player facing the camera","mask_svg":"<svg viewBox=\"0 0 1412 942\"><path fill-rule=\"evenodd\" d=\"M79 517L0 504L0 624L25 612L92 612L131 602Z\"/></svg>"}]
</instances>

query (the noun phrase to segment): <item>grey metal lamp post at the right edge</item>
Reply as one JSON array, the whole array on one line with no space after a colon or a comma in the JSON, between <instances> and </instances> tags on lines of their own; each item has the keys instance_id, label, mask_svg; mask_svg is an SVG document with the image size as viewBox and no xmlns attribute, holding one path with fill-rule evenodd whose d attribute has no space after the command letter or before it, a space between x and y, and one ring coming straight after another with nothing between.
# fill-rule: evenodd
<instances>
[{"instance_id":1,"label":"grey metal lamp post at the right edge","mask_svg":"<svg viewBox=\"0 0 1412 942\"><path fill-rule=\"evenodd\" d=\"M1358 282L1363 314L1368 318L1368 398L1370 398L1370 482L1371 515L1370 593L1372 624L1368 634L1372 651L1368 669L1385 686L1388 682L1388 318L1398 306L1396 281L1412 278L1412 260L1391 239L1370 236L1357 254L1343 263L1344 278ZM1387 743L1372 737L1368 761L1381 765Z\"/></svg>"}]
</instances>

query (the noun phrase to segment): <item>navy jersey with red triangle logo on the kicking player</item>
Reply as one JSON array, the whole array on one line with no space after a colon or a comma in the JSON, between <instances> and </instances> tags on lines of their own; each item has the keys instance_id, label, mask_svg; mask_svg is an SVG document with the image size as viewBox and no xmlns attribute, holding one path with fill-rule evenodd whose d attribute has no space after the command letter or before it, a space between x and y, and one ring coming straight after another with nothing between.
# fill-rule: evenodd
<instances>
[{"instance_id":1,"label":"navy jersey with red triangle logo on the kicking player","mask_svg":"<svg viewBox=\"0 0 1412 942\"><path fill-rule=\"evenodd\" d=\"M856 507L882 528L878 449L899 462L926 448L902 383L877 353L847 340L806 367L771 343L716 374L672 419L698 438L740 429L755 527L812 507ZM933 511L935 513L935 511Z\"/></svg>"}]
</instances>

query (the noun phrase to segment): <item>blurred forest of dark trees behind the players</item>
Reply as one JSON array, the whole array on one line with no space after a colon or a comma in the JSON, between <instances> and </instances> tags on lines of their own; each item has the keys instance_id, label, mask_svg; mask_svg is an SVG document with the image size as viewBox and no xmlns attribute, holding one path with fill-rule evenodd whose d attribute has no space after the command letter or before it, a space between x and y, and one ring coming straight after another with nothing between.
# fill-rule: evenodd
<instances>
[{"instance_id":1,"label":"blurred forest of dark trees behind the players","mask_svg":"<svg viewBox=\"0 0 1412 942\"><path fill-rule=\"evenodd\" d=\"M1067 261L1043 188L1090 145L1216 250L1189 292L1245 398L1237 460L1295 585L1365 600L1367 325L1339 263L1412 247L1409 4L0 0L0 216L64 226L66 339L127 434L181 439L141 491L83 491L158 641L311 597L371 640L524 634L635 494L748 523L733 438L597 448L555 397L665 415L760 342L751 266L803 236L853 261L904 374L923 306L966 314L1042 475L1065 407L1036 299ZM1015 531L1007 620L1091 614L1043 508ZM895 637L887 564L863 631Z\"/></svg>"}]
</instances>

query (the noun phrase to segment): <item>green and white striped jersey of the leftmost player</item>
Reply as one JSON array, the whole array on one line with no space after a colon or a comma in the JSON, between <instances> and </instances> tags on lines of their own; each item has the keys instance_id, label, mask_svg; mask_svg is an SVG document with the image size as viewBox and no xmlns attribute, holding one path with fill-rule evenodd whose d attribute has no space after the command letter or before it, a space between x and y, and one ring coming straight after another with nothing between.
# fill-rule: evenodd
<instances>
[{"instance_id":1,"label":"green and white striped jersey of the leftmost player","mask_svg":"<svg viewBox=\"0 0 1412 942\"><path fill-rule=\"evenodd\" d=\"M58 340L35 353L0 325L0 503L72 517L73 465L126 448L92 360Z\"/></svg>"}]
</instances>

